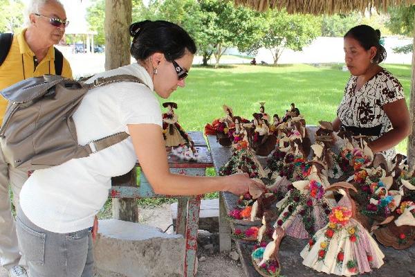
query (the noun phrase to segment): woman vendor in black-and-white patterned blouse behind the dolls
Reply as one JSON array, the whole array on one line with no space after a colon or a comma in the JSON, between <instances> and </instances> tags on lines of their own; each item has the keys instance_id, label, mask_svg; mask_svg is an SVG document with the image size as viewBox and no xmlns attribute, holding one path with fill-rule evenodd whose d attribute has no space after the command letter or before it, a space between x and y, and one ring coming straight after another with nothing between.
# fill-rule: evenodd
<instances>
[{"instance_id":1,"label":"woman vendor in black-and-white patterned blouse behind the dolls","mask_svg":"<svg viewBox=\"0 0 415 277\"><path fill-rule=\"evenodd\" d=\"M380 31L367 25L353 27L344 35L344 60L351 77L333 129L371 136L371 150L391 160L394 146L411 134L412 125L402 85L379 66L386 58L379 40Z\"/></svg>"}]
</instances>

